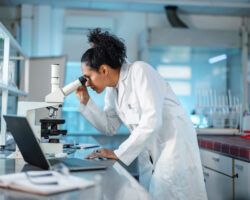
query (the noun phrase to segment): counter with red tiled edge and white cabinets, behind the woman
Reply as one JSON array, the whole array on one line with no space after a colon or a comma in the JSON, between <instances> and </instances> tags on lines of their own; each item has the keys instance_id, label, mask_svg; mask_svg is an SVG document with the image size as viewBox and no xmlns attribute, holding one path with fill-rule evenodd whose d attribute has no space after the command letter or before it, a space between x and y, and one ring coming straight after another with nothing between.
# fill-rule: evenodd
<instances>
[{"instance_id":1,"label":"counter with red tiled edge and white cabinets, behind the woman","mask_svg":"<svg viewBox=\"0 0 250 200\"><path fill-rule=\"evenodd\" d=\"M208 200L250 199L250 139L198 135Z\"/></svg>"}]
</instances>

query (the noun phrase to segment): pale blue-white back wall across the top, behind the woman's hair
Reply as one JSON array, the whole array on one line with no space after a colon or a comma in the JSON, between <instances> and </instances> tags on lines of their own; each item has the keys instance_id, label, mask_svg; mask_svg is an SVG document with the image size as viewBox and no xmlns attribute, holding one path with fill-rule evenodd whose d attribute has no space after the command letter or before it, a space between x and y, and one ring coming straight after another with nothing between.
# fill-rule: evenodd
<instances>
[{"instance_id":1,"label":"pale blue-white back wall across the top, behind the woman's hair","mask_svg":"<svg viewBox=\"0 0 250 200\"><path fill-rule=\"evenodd\" d=\"M17 20L17 13L16 8L0 8L0 20ZM171 27L165 13L69 10L48 5L22 5L20 13L21 45L29 55L66 54L69 61L79 61L83 51L89 47L83 32L65 31L64 22L69 16L77 15L82 19L91 16L112 18L113 32L125 40L128 58L131 61L138 59L138 37L142 31L149 27ZM239 30L242 24L241 17L237 16L180 14L180 18L189 28L194 29Z\"/></svg>"}]
</instances>

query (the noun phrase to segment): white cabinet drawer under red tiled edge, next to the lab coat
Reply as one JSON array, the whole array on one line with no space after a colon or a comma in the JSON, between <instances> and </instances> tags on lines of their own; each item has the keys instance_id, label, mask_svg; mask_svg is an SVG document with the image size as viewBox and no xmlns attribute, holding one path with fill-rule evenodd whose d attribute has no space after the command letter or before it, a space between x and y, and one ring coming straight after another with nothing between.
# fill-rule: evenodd
<instances>
[{"instance_id":1,"label":"white cabinet drawer under red tiled edge, next to the lab coat","mask_svg":"<svg viewBox=\"0 0 250 200\"><path fill-rule=\"evenodd\" d=\"M233 175L233 159L217 153L200 149L202 165L229 176Z\"/></svg>"}]
</instances>

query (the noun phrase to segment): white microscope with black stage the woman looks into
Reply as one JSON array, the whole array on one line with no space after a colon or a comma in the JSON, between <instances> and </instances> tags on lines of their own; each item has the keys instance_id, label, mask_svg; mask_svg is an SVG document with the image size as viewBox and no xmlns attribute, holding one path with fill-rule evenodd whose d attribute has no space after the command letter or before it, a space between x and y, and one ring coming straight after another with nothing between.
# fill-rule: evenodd
<instances>
[{"instance_id":1,"label":"white microscope with black stage the woman looks into","mask_svg":"<svg viewBox=\"0 0 250 200\"><path fill-rule=\"evenodd\" d=\"M17 115L25 116L35 133L40 146L46 154L58 154L63 152L63 144L60 143L60 136L66 135L67 130L60 130L59 125L64 124L64 119L57 119L57 112L64 102L64 98L75 91L78 87L85 85L84 76L69 83L63 88L59 87L60 66L58 64L51 65L51 93L45 97L44 102L18 102ZM48 117L40 119L40 126L36 125L36 110L40 108L48 109ZM19 156L16 156L19 157Z\"/></svg>"}]
</instances>

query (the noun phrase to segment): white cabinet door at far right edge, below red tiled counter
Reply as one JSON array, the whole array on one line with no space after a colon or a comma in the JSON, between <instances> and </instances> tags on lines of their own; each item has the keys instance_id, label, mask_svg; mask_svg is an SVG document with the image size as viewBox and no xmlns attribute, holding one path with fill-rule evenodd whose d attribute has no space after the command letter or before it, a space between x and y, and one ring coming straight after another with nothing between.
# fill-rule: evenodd
<instances>
[{"instance_id":1,"label":"white cabinet door at far right edge, below red tiled counter","mask_svg":"<svg viewBox=\"0 0 250 200\"><path fill-rule=\"evenodd\" d=\"M250 199L250 163L235 160L235 199Z\"/></svg>"}]
</instances>

